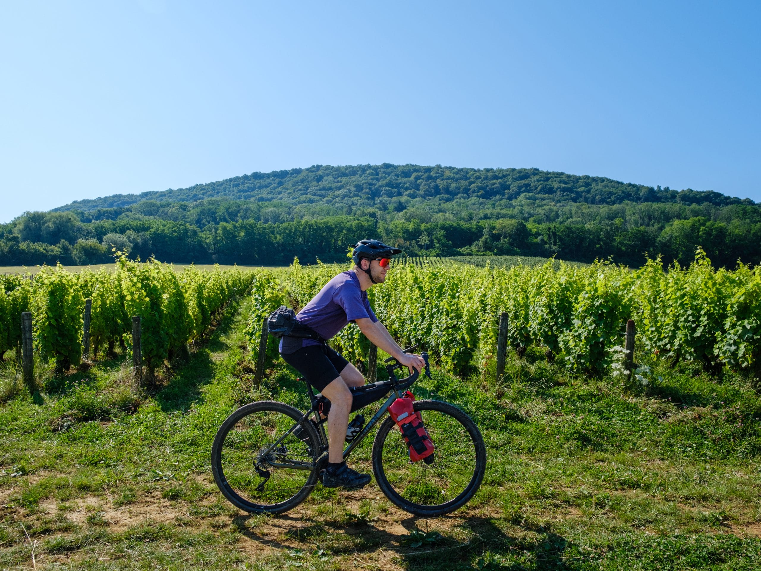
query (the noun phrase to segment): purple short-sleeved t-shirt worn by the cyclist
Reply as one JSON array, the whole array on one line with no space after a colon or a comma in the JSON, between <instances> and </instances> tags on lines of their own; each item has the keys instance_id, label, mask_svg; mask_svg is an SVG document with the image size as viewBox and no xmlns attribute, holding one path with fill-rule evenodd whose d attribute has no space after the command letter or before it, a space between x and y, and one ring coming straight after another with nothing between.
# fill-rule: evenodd
<instances>
[{"instance_id":1,"label":"purple short-sleeved t-shirt worn by the cyclist","mask_svg":"<svg viewBox=\"0 0 761 571\"><path fill-rule=\"evenodd\" d=\"M370 317L375 323L377 317L370 307L368 292L363 292L359 278L352 271L339 273L327 282L320 293L298 312L298 322L308 325L323 337L330 339L349 321ZM311 339L283 337L280 340L280 352L288 355L302 347L320 345Z\"/></svg>"}]
</instances>

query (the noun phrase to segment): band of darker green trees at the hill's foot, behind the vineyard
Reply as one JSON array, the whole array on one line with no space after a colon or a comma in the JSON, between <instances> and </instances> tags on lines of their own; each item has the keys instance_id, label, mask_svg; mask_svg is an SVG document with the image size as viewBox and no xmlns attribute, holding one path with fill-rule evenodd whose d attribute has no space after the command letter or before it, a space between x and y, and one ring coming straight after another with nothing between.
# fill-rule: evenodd
<instances>
[{"instance_id":1,"label":"band of darker green trees at the hill's foot, behind the vineyard","mask_svg":"<svg viewBox=\"0 0 761 571\"><path fill-rule=\"evenodd\" d=\"M377 237L410 256L524 255L591 262L612 258L641 266L693 260L701 246L715 266L761 262L761 220L721 222L705 216L664 225L525 222L521 219L421 222L375 216L327 216L292 222L244 220L199 228L188 222L118 219L81 222L73 212L32 212L0 226L0 265L106 263L114 252L177 263L287 265L345 260L358 239Z\"/></svg>"}]
</instances>

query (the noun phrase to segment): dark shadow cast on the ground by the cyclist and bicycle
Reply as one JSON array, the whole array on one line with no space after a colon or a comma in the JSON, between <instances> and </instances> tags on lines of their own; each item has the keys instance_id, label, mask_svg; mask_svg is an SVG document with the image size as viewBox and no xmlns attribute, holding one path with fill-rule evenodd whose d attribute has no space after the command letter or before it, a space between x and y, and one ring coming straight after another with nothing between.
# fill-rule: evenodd
<instances>
[{"instance_id":1,"label":"dark shadow cast on the ground by the cyclist and bicycle","mask_svg":"<svg viewBox=\"0 0 761 571\"><path fill-rule=\"evenodd\" d=\"M472 569L475 563L479 569L517 571L526 569L529 561L532 569L571 571L575 568L564 557L568 542L561 535L529 526L525 531L534 531L533 539L527 539L525 534L514 537L496 525L494 518L482 516L462 517L455 514L431 519L410 516L397 520L391 529L387 528L387 521L368 522L361 518L345 523L307 520L304 525L304 516L290 515L266 518L262 526L247 525L253 517L256 516L234 516L231 525L252 541L288 552L295 548L322 545L330 541L332 534L333 537L336 537L335 534L345 534L351 536L352 541L342 547L331 546L332 553L366 556L382 549L384 553L391 553L386 559L403 561L409 568L438 566L441 569ZM263 529L265 525L269 533ZM444 536L417 545L412 536L415 531L444 531ZM272 538L272 533L276 534L276 538Z\"/></svg>"}]
</instances>

